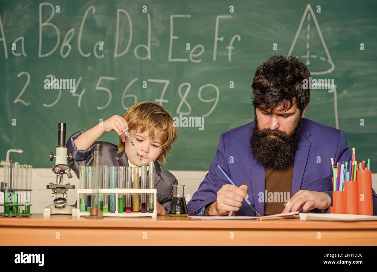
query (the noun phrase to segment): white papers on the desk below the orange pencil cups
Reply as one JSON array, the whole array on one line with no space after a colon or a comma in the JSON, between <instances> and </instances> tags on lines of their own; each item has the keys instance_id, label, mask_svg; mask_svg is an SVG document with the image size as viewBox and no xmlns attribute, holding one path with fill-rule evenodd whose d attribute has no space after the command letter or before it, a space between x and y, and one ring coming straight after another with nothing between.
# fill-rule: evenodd
<instances>
[{"instance_id":1,"label":"white papers on the desk below the orange pencil cups","mask_svg":"<svg viewBox=\"0 0 377 272\"><path fill-rule=\"evenodd\" d=\"M308 214L300 213L302 221L377 221L377 216L361 214Z\"/></svg>"}]
</instances>

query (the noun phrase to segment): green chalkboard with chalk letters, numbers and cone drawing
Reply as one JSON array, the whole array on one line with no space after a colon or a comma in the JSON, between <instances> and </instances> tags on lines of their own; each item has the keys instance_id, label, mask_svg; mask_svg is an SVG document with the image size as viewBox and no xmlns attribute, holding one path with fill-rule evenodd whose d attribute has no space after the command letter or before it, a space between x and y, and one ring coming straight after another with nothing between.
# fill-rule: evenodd
<instances>
[{"instance_id":1,"label":"green chalkboard with chalk letters, numbers and cone drawing","mask_svg":"<svg viewBox=\"0 0 377 272\"><path fill-rule=\"evenodd\" d=\"M305 117L344 130L358 157L373 162L376 12L372 0L3 0L0 156L20 148L14 160L52 167L58 122L67 123L68 137L149 100L173 116L204 116L203 130L178 128L166 166L208 170L219 134L253 120L256 67L291 52L313 79L336 85L311 90ZM51 75L75 79L76 92L46 90ZM118 136L100 140L117 144Z\"/></svg>"}]
</instances>

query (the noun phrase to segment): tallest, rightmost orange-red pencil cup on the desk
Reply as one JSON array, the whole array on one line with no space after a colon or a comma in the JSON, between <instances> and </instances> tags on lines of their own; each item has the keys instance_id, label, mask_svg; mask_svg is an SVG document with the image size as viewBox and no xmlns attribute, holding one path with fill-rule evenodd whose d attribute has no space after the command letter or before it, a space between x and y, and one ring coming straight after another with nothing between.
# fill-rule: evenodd
<instances>
[{"instance_id":1,"label":"tallest, rightmost orange-red pencil cup on the desk","mask_svg":"<svg viewBox=\"0 0 377 272\"><path fill-rule=\"evenodd\" d=\"M372 206L372 170L356 171L357 187L359 190L359 214L373 215Z\"/></svg>"}]
</instances>

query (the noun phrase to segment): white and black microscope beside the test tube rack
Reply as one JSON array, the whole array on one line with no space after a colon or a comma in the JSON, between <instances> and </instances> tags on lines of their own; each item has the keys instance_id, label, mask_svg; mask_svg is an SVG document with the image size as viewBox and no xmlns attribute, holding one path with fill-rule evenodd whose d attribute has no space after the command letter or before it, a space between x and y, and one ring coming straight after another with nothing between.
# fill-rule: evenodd
<instances>
[{"instance_id":1,"label":"white and black microscope beside the test tube rack","mask_svg":"<svg viewBox=\"0 0 377 272\"><path fill-rule=\"evenodd\" d=\"M72 153L67 154L66 147L66 123L58 124L58 145L55 148L55 154L50 152L50 161L55 159L55 166L52 172L56 175L56 183L50 182L46 186L47 189L52 189L52 203L43 209L44 216L51 214L72 214L75 207L68 205L68 190L75 189L75 185L70 185L70 182L63 184L63 175L67 175L70 179L72 174L67 162L72 161Z\"/></svg>"}]
</instances>

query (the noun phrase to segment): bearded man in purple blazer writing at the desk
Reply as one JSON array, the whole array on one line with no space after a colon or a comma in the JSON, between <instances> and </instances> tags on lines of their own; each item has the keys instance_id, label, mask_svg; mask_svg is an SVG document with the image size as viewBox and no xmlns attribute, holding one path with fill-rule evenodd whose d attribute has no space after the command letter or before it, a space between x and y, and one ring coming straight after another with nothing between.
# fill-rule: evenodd
<instances>
[{"instance_id":1,"label":"bearded man in purple blazer writing at the desk","mask_svg":"<svg viewBox=\"0 0 377 272\"><path fill-rule=\"evenodd\" d=\"M310 100L304 79L310 80L307 67L291 56L271 57L257 68L254 122L220 135L209 172L187 205L190 215L256 215L244 199L261 215L328 212L330 158L352 157L343 131L303 118Z\"/></svg>"}]
</instances>

